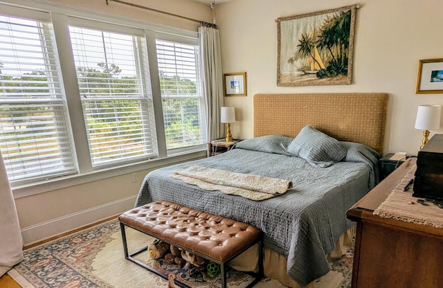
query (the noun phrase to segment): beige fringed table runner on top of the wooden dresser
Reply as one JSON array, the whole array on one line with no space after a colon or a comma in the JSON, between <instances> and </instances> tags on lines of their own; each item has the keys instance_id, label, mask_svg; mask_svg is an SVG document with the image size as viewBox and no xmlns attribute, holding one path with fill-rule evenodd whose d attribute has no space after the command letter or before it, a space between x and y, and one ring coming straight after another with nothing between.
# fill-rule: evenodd
<instances>
[{"instance_id":1,"label":"beige fringed table runner on top of the wooden dresser","mask_svg":"<svg viewBox=\"0 0 443 288\"><path fill-rule=\"evenodd\" d=\"M397 183L390 195L380 206L374 210L374 215L383 218L393 218L404 222L412 222L419 225L443 228L443 209L430 202L428 206L419 204L417 200L423 199L413 197L413 185L407 191L403 191L410 179L414 178L417 165L412 165L403 179Z\"/></svg>"}]
</instances>

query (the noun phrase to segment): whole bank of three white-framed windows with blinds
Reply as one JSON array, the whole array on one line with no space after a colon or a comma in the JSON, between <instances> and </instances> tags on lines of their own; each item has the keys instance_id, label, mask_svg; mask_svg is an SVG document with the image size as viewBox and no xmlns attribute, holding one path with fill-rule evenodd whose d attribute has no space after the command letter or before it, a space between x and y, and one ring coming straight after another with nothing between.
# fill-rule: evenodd
<instances>
[{"instance_id":1,"label":"whole bank of three white-framed windows with blinds","mask_svg":"<svg viewBox=\"0 0 443 288\"><path fill-rule=\"evenodd\" d=\"M206 150L197 33L25 4L0 3L0 150L12 187L84 183Z\"/></svg>"}]
</instances>

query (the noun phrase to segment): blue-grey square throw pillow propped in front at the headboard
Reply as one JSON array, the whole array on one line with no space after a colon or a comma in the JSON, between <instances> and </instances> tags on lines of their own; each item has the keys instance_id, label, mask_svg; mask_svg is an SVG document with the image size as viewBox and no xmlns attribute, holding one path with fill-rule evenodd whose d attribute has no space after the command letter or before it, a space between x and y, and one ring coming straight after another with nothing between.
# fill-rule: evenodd
<instances>
[{"instance_id":1,"label":"blue-grey square throw pillow propped in front at the headboard","mask_svg":"<svg viewBox=\"0 0 443 288\"><path fill-rule=\"evenodd\" d=\"M341 161L346 156L346 147L340 141L306 125L288 146L288 152L321 168Z\"/></svg>"}]
</instances>

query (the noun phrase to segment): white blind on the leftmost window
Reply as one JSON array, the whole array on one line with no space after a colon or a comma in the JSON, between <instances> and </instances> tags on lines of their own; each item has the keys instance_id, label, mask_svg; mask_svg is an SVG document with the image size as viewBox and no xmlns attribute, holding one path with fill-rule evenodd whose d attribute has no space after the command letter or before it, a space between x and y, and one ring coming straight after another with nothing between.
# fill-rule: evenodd
<instances>
[{"instance_id":1,"label":"white blind on the leftmost window","mask_svg":"<svg viewBox=\"0 0 443 288\"><path fill-rule=\"evenodd\" d=\"M0 15L0 150L12 183L77 172L59 67L50 23Z\"/></svg>"}]
</instances>

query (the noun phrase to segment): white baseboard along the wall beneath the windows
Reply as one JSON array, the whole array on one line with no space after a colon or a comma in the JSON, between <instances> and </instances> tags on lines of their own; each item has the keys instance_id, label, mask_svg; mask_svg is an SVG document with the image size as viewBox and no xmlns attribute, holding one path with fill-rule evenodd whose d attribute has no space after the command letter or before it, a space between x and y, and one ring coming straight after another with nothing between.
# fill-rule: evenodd
<instances>
[{"instance_id":1,"label":"white baseboard along the wall beneath the windows","mask_svg":"<svg viewBox=\"0 0 443 288\"><path fill-rule=\"evenodd\" d=\"M78 211L63 217L51 219L21 229L24 246L32 245L36 242L42 242L51 237L68 233L77 228L87 226L121 213L134 207L136 196L119 199L107 204Z\"/></svg>"}]
</instances>

